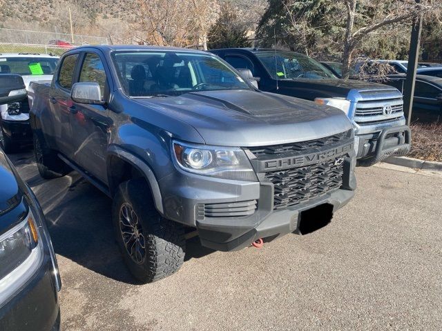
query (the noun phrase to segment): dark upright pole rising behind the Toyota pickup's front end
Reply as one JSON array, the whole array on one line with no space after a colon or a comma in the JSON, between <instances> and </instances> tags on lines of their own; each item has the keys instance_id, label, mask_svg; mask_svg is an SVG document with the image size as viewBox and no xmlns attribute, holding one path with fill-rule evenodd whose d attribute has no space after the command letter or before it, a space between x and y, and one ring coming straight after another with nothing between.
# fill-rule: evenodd
<instances>
[{"instance_id":1,"label":"dark upright pole rising behind the Toyota pickup's front end","mask_svg":"<svg viewBox=\"0 0 442 331\"><path fill-rule=\"evenodd\" d=\"M421 0L416 1L419 6ZM410 52L408 53L407 79L403 88L403 111L407 117L407 125L410 126L412 120L412 108L414 97L414 85L416 83L417 62L419 60L419 45L421 44L422 14L417 14L413 18L412 36L410 40Z\"/></svg>"}]
</instances>

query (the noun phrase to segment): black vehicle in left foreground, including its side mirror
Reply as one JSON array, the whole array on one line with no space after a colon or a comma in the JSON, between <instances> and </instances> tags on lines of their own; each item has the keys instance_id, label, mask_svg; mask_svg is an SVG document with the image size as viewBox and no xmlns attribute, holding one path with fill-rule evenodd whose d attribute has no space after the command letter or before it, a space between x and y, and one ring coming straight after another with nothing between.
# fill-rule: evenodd
<instances>
[{"instance_id":1,"label":"black vehicle in left foreground, including its side mirror","mask_svg":"<svg viewBox=\"0 0 442 331\"><path fill-rule=\"evenodd\" d=\"M0 104L23 96L19 75L0 75ZM0 330L59 330L60 288L40 205L0 148Z\"/></svg>"}]
</instances>

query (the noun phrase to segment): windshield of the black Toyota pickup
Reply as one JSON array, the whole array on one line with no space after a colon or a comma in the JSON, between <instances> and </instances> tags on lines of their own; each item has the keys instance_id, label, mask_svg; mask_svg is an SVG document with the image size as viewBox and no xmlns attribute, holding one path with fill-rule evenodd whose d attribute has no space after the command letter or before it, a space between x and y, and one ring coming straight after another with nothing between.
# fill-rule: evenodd
<instances>
[{"instance_id":1,"label":"windshield of the black Toyota pickup","mask_svg":"<svg viewBox=\"0 0 442 331\"><path fill-rule=\"evenodd\" d=\"M256 52L273 79L336 78L318 61L296 52Z\"/></svg>"}]
</instances>

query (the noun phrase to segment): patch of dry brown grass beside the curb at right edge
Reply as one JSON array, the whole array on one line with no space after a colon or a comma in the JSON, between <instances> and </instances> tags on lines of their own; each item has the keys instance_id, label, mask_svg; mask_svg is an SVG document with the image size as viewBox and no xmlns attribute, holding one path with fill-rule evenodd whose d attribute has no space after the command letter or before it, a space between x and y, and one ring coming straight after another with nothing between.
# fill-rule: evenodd
<instances>
[{"instance_id":1,"label":"patch of dry brown grass beside the curb at right edge","mask_svg":"<svg viewBox=\"0 0 442 331\"><path fill-rule=\"evenodd\" d=\"M413 123L412 150L408 157L442 161L442 123Z\"/></svg>"}]
</instances>

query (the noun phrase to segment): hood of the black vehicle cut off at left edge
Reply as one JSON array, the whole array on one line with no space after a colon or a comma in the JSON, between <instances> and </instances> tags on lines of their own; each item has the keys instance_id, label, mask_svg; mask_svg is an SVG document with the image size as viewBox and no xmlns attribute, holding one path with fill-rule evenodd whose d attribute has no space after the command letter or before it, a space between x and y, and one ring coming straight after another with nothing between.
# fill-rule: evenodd
<instances>
[{"instance_id":1,"label":"hood of the black vehicle cut off at left edge","mask_svg":"<svg viewBox=\"0 0 442 331\"><path fill-rule=\"evenodd\" d=\"M21 201L21 190L5 154L0 150L0 215Z\"/></svg>"}]
</instances>

